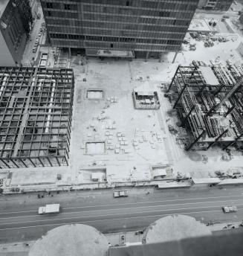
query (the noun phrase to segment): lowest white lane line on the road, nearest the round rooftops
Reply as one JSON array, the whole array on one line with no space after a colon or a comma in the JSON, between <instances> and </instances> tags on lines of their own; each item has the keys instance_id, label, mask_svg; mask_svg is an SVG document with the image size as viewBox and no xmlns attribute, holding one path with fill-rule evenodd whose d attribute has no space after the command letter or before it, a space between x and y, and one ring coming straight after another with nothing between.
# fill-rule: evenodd
<instances>
[{"instance_id":1,"label":"lowest white lane line on the road, nearest the round rooftops","mask_svg":"<svg viewBox=\"0 0 243 256\"><path fill-rule=\"evenodd\" d=\"M241 209L243 210L243 209ZM190 213L178 213L178 214L201 214L201 213L210 213L210 212L218 212L219 210L214 211L192 211ZM149 218L149 217L164 217L169 216L172 214L157 214L157 215L150 215L150 216L137 216L137 217L124 217L124 218L114 218L114 219L105 219L105 220L86 220L86 221L80 221L77 223L56 223L56 224L44 224L44 225L31 225L31 226L24 226L19 228L0 228L1 230L11 230L11 229L21 229L21 228L38 228L38 227L44 227L44 226L54 226L54 225L68 225L68 224L80 224L80 223L96 223L96 222L103 222L103 221L111 221L111 220L131 220L131 219L140 219L140 218Z\"/></svg>"}]
</instances>

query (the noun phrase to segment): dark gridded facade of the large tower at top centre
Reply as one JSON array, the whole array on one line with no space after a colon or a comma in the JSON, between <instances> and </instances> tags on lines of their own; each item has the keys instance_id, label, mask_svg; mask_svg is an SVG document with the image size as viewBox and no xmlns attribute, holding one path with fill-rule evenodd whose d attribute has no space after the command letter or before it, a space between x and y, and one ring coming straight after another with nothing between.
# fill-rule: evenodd
<instances>
[{"instance_id":1,"label":"dark gridded facade of the large tower at top centre","mask_svg":"<svg viewBox=\"0 0 243 256\"><path fill-rule=\"evenodd\" d=\"M51 45L133 51L158 57L179 51L198 0L41 0Z\"/></svg>"}]
</instances>

